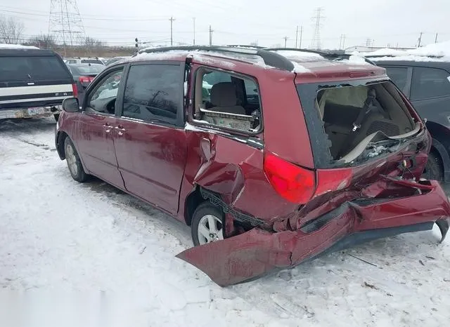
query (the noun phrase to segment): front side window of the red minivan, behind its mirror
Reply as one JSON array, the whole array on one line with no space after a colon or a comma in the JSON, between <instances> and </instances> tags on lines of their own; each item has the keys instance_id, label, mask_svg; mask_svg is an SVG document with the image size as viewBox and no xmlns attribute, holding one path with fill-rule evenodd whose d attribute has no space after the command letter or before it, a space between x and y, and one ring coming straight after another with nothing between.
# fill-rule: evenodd
<instances>
[{"instance_id":1,"label":"front side window of the red minivan, behind its mirror","mask_svg":"<svg viewBox=\"0 0 450 327\"><path fill-rule=\"evenodd\" d=\"M103 114L115 113L115 100L117 91L119 91L120 81L122 81L123 70L123 67L121 67L101 79L88 95L87 107Z\"/></svg>"}]
</instances>

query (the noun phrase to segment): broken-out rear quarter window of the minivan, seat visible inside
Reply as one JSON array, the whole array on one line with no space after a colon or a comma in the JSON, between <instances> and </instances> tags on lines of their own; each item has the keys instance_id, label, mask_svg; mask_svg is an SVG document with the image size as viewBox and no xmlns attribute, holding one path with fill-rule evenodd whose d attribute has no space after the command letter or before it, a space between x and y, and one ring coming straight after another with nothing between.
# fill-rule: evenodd
<instances>
[{"instance_id":1,"label":"broken-out rear quarter window of the minivan, seat visible inside","mask_svg":"<svg viewBox=\"0 0 450 327\"><path fill-rule=\"evenodd\" d=\"M197 122L248 133L260 130L262 114L255 80L200 68L195 81L193 116Z\"/></svg>"}]
</instances>

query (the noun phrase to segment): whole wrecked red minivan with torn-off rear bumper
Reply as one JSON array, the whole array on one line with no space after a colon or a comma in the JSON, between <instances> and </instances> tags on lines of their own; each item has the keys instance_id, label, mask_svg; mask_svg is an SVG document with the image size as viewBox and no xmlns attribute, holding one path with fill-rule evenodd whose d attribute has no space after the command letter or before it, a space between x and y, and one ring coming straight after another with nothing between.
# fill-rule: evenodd
<instances>
[{"instance_id":1,"label":"whole wrecked red minivan with torn-off rear bumper","mask_svg":"<svg viewBox=\"0 0 450 327\"><path fill-rule=\"evenodd\" d=\"M56 148L191 226L178 255L221 286L326 251L432 229L450 204L420 179L430 135L385 69L238 47L141 51L68 98Z\"/></svg>"}]
</instances>

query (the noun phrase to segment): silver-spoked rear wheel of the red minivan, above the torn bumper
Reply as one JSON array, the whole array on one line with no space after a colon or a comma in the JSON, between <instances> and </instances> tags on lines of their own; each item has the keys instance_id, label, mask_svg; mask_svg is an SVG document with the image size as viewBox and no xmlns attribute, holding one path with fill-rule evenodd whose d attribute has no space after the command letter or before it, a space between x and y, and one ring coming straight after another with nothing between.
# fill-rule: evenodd
<instances>
[{"instance_id":1,"label":"silver-spoked rear wheel of the red minivan, above the torn bumper","mask_svg":"<svg viewBox=\"0 0 450 327\"><path fill-rule=\"evenodd\" d=\"M194 246L203 245L224 239L224 213L220 208L213 206L210 202L203 202L195 209L192 218L191 234ZM215 231L210 228L210 222L215 222ZM206 229L205 229L206 228ZM199 233L203 230L203 233ZM205 232L209 232L209 237L205 237Z\"/></svg>"}]
</instances>

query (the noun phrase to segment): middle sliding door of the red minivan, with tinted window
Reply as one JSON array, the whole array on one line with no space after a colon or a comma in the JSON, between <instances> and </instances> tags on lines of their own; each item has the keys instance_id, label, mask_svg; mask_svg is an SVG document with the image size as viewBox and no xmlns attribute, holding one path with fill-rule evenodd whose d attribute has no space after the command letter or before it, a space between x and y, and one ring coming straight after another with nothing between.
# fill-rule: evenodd
<instances>
[{"instance_id":1,"label":"middle sliding door of the red minivan, with tinted window","mask_svg":"<svg viewBox=\"0 0 450 327\"><path fill-rule=\"evenodd\" d=\"M184 63L131 65L115 126L117 163L128 192L178 211L186 165Z\"/></svg>"}]
</instances>

